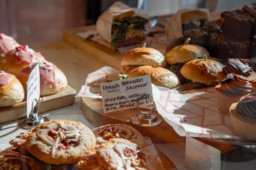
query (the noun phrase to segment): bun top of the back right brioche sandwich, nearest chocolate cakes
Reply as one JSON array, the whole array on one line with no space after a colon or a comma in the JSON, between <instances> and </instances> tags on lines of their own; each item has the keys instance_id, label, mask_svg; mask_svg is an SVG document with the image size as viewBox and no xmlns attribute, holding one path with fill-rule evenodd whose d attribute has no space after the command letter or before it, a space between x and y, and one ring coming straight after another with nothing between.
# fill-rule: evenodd
<instances>
[{"instance_id":1,"label":"bun top of the back right brioche sandwich, nearest chocolate cakes","mask_svg":"<svg viewBox=\"0 0 256 170\"><path fill-rule=\"evenodd\" d=\"M184 63L195 58L203 58L202 54L209 57L209 52L202 46L186 44L174 47L165 54L166 62L169 65Z\"/></svg>"}]
</instances>

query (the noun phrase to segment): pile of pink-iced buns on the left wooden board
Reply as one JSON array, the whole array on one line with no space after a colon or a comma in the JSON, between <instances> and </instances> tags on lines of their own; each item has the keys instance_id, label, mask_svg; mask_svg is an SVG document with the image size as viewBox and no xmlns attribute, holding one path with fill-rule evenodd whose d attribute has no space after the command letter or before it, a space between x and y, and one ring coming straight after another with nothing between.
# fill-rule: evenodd
<instances>
[{"instance_id":1,"label":"pile of pink-iced buns on the left wooden board","mask_svg":"<svg viewBox=\"0 0 256 170\"><path fill-rule=\"evenodd\" d=\"M24 100L26 81L36 64L40 67L40 96L59 93L67 86L64 73L43 55L0 33L0 107Z\"/></svg>"}]
</instances>

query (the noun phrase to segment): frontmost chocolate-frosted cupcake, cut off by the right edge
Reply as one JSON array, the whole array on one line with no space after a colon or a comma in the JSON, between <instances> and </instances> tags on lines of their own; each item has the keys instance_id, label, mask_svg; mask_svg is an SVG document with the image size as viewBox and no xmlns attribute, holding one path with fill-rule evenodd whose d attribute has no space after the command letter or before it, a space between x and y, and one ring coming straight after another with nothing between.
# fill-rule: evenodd
<instances>
[{"instance_id":1,"label":"frontmost chocolate-frosted cupcake, cut off by the right edge","mask_svg":"<svg viewBox=\"0 0 256 170\"><path fill-rule=\"evenodd\" d=\"M242 97L230 107L230 116L237 135L256 140L256 93Z\"/></svg>"}]
</instances>

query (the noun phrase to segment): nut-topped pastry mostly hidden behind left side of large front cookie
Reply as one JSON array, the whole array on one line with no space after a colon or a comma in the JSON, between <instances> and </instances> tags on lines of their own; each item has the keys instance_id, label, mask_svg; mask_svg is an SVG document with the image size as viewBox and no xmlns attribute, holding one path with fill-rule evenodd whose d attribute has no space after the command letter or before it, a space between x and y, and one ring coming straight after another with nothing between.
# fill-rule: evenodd
<instances>
[{"instance_id":1,"label":"nut-topped pastry mostly hidden behind left side of large front cookie","mask_svg":"<svg viewBox=\"0 0 256 170\"><path fill-rule=\"evenodd\" d=\"M9 142L12 145L12 151L17 151L21 155L31 155L26 148L25 142L28 138L28 135L32 133L33 129L34 128L26 132L21 132L19 135L16 136L15 139L12 139Z\"/></svg>"}]
</instances>

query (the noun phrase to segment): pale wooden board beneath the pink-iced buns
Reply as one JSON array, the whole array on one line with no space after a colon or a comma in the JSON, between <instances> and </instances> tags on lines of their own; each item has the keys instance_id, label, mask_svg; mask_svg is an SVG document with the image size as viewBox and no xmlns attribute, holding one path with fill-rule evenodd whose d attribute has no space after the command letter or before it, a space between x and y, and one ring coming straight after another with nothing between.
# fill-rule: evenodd
<instances>
[{"instance_id":1,"label":"pale wooden board beneath the pink-iced buns","mask_svg":"<svg viewBox=\"0 0 256 170\"><path fill-rule=\"evenodd\" d=\"M74 104L76 90L69 85L60 93L49 95L39 102L38 113L44 113ZM27 102L23 101L11 107L0 108L0 124L18 120L27 116Z\"/></svg>"}]
</instances>

